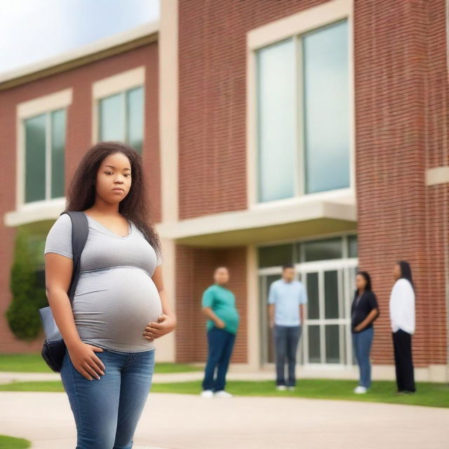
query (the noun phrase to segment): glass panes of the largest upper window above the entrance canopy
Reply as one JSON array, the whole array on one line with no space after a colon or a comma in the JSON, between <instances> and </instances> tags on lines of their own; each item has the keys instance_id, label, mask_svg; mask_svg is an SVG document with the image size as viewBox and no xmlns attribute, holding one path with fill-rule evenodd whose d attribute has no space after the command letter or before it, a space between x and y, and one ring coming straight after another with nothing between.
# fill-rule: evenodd
<instances>
[{"instance_id":1,"label":"glass panes of the largest upper window above the entrance canopy","mask_svg":"<svg viewBox=\"0 0 449 449\"><path fill-rule=\"evenodd\" d=\"M257 199L349 187L347 20L256 52Z\"/></svg>"}]
</instances>

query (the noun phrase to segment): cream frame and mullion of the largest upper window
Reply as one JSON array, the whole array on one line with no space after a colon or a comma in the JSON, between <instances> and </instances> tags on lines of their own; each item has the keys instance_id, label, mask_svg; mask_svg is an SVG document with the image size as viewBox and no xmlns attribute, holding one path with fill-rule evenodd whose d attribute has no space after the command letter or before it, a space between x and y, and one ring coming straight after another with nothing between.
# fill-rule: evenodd
<instances>
[{"instance_id":1,"label":"cream frame and mullion of the largest upper window","mask_svg":"<svg viewBox=\"0 0 449 449\"><path fill-rule=\"evenodd\" d=\"M295 196L286 199L273 201L259 201L259 179L258 179L258 122L257 122L257 51L274 43L293 39L298 58L295 70L297 71L296 86L302 85L302 58L298 53L300 48L300 37L316 29L333 25L342 20L347 20L348 25L348 76L349 76L349 187L342 189L332 189L324 192L305 193L305 168L297 170L295 173ZM295 13L286 18L270 22L262 27L257 27L247 33L247 159L246 174L248 180L247 200L248 208L263 208L276 204L301 203L309 199L328 199L336 194L354 195L355 192L355 114L354 114L354 32L353 32L353 1L352 0L331 0L325 4L309 8ZM297 88L297 87L296 87ZM297 116L295 121L295 140L297 142L294 158L304 161L304 108L302 100L302 90L297 92ZM299 165L299 164L298 164Z\"/></svg>"}]
</instances>

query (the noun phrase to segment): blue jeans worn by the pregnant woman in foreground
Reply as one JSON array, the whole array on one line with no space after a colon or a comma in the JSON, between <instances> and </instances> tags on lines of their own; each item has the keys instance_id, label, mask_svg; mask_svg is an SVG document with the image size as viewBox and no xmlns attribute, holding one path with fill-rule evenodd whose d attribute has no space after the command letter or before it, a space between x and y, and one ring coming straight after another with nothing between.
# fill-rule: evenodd
<instances>
[{"instance_id":1,"label":"blue jeans worn by the pregnant woman in foreground","mask_svg":"<svg viewBox=\"0 0 449 449\"><path fill-rule=\"evenodd\" d=\"M152 383L154 349L105 349L95 354L106 368L100 380L83 377L68 351L62 361L62 384L76 423L76 449L131 449Z\"/></svg>"}]
</instances>

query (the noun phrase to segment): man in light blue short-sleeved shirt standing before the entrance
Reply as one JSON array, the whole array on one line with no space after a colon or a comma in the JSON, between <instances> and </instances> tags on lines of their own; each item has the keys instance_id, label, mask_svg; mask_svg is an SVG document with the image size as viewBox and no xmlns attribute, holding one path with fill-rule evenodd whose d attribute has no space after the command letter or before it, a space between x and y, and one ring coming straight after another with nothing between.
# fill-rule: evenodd
<instances>
[{"instance_id":1,"label":"man in light blue short-sleeved shirt standing before the entrance","mask_svg":"<svg viewBox=\"0 0 449 449\"><path fill-rule=\"evenodd\" d=\"M276 350L276 388L295 389L296 351L304 320L307 292L304 284L295 279L295 268L282 267L282 277L269 286L269 325L273 328ZM285 368L288 363L288 381Z\"/></svg>"}]
</instances>

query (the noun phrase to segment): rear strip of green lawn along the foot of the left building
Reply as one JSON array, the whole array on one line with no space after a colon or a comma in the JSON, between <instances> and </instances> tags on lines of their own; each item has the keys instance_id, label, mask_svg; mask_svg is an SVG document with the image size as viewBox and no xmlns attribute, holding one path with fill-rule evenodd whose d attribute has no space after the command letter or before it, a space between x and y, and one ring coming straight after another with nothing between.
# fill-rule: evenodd
<instances>
[{"instance_id":1,"label":"rear strip of green lawn along the foot of the left building","mask_svg":"<svg viewBox=\"0 0 449 449\"><path fill-rule=\"evenodd\" d=\"M156 363L155 373L187 373L199 371L198 366L182 363ZM15 373L53 373L41 354L0 354L0 371Z\"/></svg>"}]
</instances>

